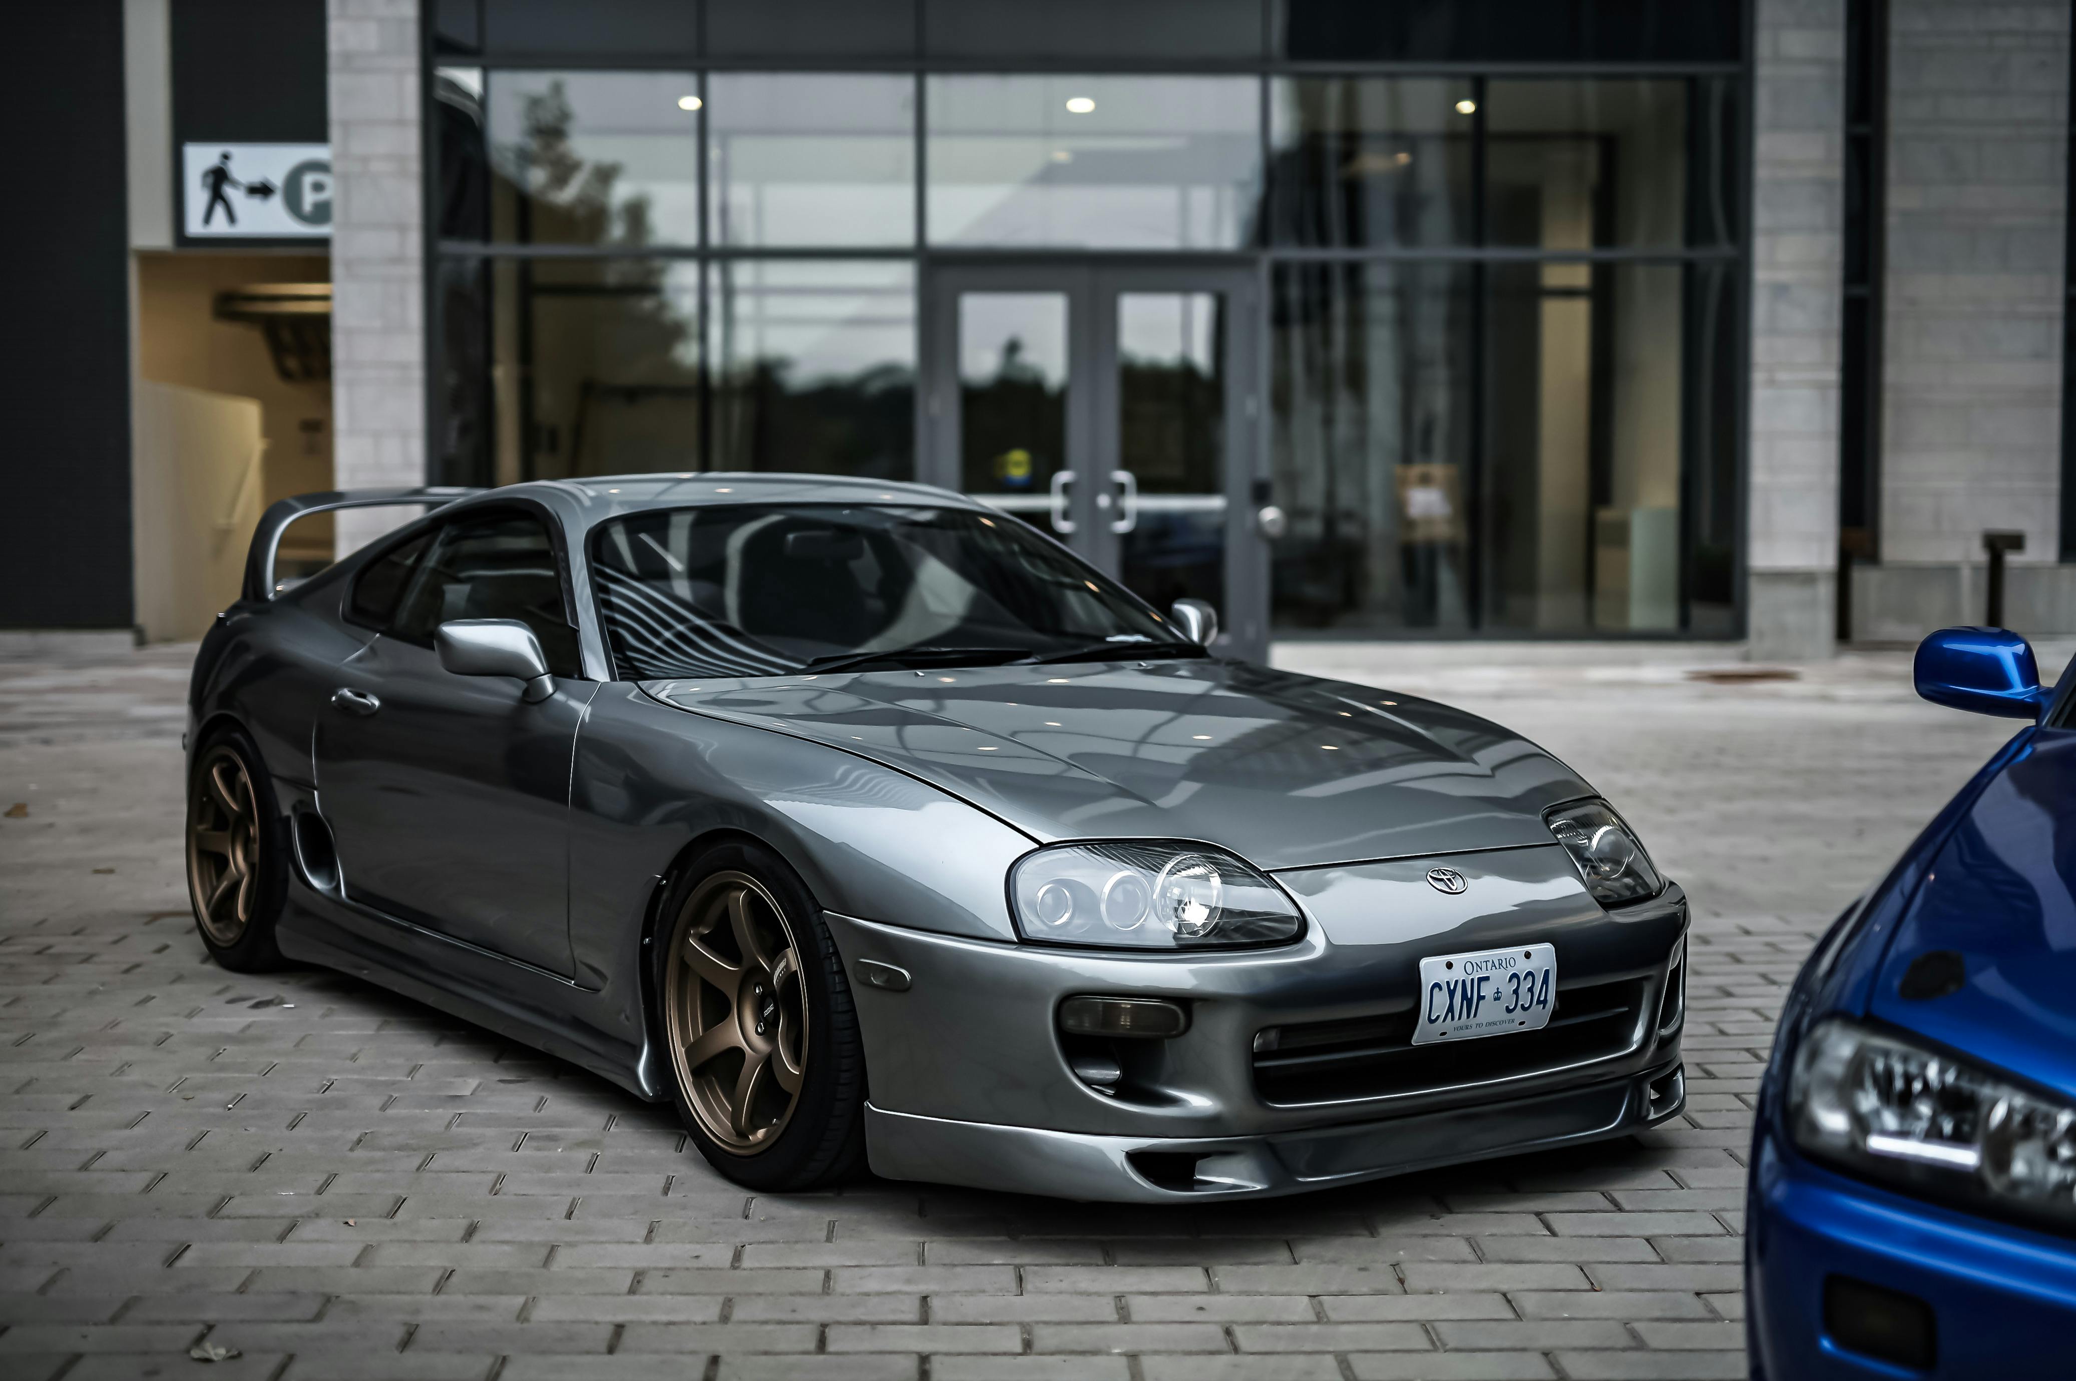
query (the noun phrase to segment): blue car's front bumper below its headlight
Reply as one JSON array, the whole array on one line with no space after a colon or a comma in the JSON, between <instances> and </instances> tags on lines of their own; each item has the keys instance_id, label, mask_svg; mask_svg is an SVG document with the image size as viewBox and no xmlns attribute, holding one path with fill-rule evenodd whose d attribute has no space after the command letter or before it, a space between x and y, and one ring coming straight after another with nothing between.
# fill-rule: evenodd
<instances>
[{"instance_id":1,"label":"blue car's front bumper below its headlight","mask_svg":"<svg viewBox=\"0 0 2076 1381\"><path fill-rule=\"evenodd\" d=\"M1958 1213L1758 1142L1746 1261L1752 1375L1763 1381L2066 1375L2076 1242ZM1931 1371L1841 1346L1823 1317L1831 1277L1924 1302Z\"/></svg>"}]
</instances>

